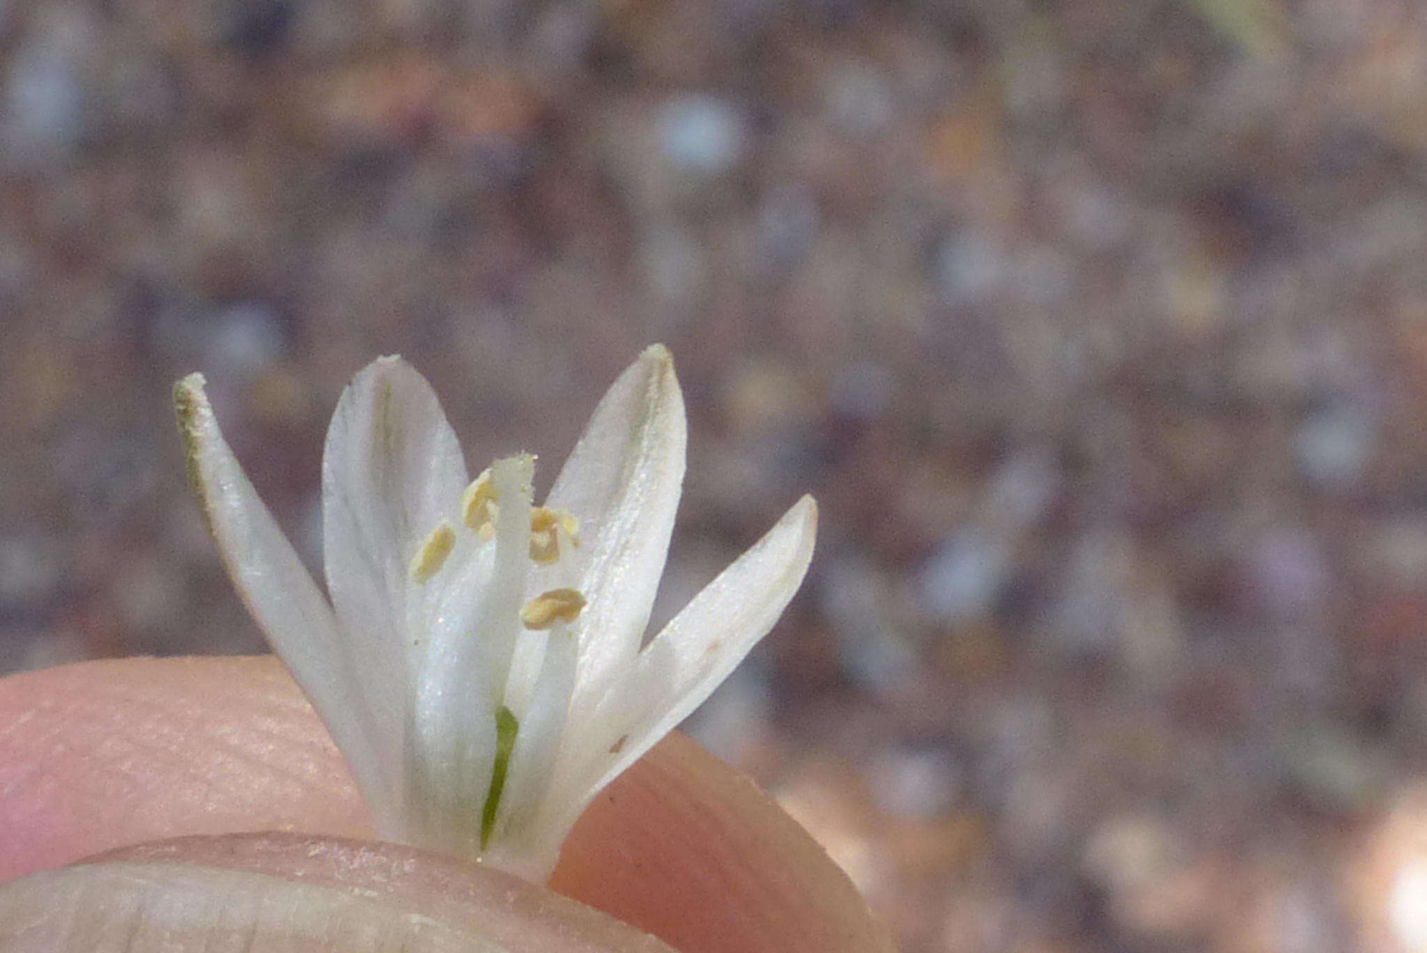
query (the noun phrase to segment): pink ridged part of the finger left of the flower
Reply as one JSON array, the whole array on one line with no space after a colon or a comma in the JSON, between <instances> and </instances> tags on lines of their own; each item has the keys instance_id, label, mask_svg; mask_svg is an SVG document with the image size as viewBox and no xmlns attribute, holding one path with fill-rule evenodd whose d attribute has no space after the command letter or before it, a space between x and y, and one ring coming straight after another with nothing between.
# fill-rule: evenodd
<instances>
[{"instance_id":1,"label":"pink ridged part of the finger left of the flower","mask_svg":"<svg viewBox=\"0 0 1427 953\"><path fill-rule=\"evenodd\" d=\"M176 835L371 836L273 658L108 659L0 679L0 882Z\"/></svg>"}]
</instances>

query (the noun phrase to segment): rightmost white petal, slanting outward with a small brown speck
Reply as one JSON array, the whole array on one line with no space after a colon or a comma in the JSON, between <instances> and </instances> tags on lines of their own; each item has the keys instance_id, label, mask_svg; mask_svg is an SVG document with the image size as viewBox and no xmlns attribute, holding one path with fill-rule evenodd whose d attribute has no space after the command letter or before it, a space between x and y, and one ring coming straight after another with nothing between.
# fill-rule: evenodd
<instances>
[{"instance_id":1,"label":"rightmost white petal, slanting outward with a small brown speck","mask_svg":"<svg viewBox=\"0 0 1427 953\"><path fill-rule=\"evenodd\" d=\"M639 653L625 683L636 718L594 792L702 705L773 628L802 585L816 532L818 505L803 496Z\"/></svg>"}]
</instances>

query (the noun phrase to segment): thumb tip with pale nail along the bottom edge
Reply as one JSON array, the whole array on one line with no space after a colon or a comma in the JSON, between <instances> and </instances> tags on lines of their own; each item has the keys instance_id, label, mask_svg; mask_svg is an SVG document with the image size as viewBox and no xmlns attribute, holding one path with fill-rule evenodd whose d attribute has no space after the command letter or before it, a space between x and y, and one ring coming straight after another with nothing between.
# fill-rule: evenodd
<instances>
[{"instance_id":1,"label":"thumb tip with pale nail along the bottom edge","mask_svg":"<svg viewBox=\"0 0 1427 953\"><path fill-rule=\"evenodd\" d=\"M0 952L674 953L592 907L410 847L184 837L0 886Z\"/></svg>"}]
</instances>

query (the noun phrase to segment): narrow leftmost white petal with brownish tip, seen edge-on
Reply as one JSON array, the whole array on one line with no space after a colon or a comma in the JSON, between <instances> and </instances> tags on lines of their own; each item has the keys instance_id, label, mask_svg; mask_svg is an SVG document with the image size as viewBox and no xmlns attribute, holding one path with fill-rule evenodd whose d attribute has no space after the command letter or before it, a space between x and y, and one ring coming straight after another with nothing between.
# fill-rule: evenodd
<instances>
[{"instance_id":1,"label":"narrow leftmost white petal with brownish tip, seen edge-on","mask_svg":"<svg viewBox=\"0 0 1427 953\"><path fill-rule=\"evenodd\" d=\"M331 608L223 439L203 384L201 374L178 381L174 402L204 519L248 612L347 756L372 812L387 820L401 765L397 752L382 749L377 718L405 685L357 678Z\"/></svg>"}]
</instances>

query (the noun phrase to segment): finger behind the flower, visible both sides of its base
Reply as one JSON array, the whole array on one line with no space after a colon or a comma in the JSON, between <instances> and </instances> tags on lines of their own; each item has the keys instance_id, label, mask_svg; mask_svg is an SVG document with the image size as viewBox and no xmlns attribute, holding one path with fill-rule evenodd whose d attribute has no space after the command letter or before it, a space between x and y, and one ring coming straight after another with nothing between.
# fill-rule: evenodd
<instances>
[{"instance_id":1,"label":"finger behind the flower, visible both sides of its base","mask_svg":"<svg viewBox=\"0 0 1427 953\"><path fill-rule=\"evenodd\" d=\"M0 679L0 879L237 830L372 836L340 753L274 659ZM808 835L678 735L596 797L551 886L685 953L890 949Z\"/></svg>"}]
</instances>

